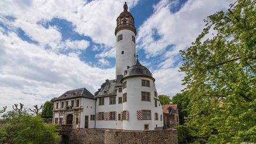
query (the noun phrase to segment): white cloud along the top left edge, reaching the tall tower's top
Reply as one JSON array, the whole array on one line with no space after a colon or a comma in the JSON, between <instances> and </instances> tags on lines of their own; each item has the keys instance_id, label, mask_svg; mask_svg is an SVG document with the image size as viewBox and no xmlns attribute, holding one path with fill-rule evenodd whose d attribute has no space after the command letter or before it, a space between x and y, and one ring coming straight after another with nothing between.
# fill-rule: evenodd
<instances>
[{"instance_id":1,"label":"white cloud along the top left edge, reaching the tall tower's top","mask_svg":"<svg viewBox=\"0 0 256 144\"><path fill-rule=\"evenodd\" d=\"M30 26L36 29L39 21L60 18L70 21L77 33L89 36L92 41L106 46L115 44L115 27L118 14L123 11L123 1L103 0L86 2L83 0L61 1L0 1L0 14L12 15L22 21L22 29L33 38L42 38L29 33ZM138 4L138 0L127 1L129 9ZM34 30L32 30L34 31ZM37 31L40 32L40 31ZM54 32L54 31L52 31ZM39 33L40 34L40 33ZM53 37L53 36L51 36ZM45 37L47 39L47 37ZM58 37L57 37L58 39ZM43 41L44 42L44 41Z\"/></svg>"}]
</instances>

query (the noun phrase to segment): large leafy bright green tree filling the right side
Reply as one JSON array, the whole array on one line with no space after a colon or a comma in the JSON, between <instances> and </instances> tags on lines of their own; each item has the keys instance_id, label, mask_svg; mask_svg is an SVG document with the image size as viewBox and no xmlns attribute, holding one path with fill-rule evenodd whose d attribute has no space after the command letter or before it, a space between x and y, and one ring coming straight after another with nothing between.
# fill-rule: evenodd
<instances>
[{"instance_id":1,"label":"large leafy bright green tree filling the right side","mask_svg":"<svg viewBox=\"0 0 256 144\"><path fill-rule=\"evenodd\" d=\"M227 12L210 15L202 34L181 51L186 125L208 143L256 142L255 3L238 0Z\"/></svg>"}]
</instances>

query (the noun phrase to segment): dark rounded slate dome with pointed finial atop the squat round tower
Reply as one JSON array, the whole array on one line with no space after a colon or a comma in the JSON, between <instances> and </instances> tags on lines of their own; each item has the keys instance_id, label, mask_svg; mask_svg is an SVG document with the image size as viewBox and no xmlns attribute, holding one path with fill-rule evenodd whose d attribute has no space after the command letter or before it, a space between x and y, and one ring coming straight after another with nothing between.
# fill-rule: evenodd
<instances>
[{"instance_id":1,"label":"dark rounded slate dome with pointed finial atop the squat round tower","mask_svg":"<svg viewBox=\"0 0 256 144\"><path fill-rule=\"evenodd\" d=\"M153 78L153 76L150 73L150 71L148 70L148 68L146 68L140 64L140 62L138 60L138 55L137 55L137 60L136 60L135 64L124 71L123 79L126 79L127 77L137 77L137 76L148 77L148 78L153 79L153 81L155 82L155 78ZM123 81L123 79L121 81Z\"/></svg>"}]
</instances>

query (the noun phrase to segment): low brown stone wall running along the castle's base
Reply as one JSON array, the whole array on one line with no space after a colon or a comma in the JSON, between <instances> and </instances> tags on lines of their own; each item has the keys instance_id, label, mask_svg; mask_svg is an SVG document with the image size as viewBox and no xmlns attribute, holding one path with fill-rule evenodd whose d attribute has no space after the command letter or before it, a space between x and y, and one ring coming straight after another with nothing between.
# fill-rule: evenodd
<instances>
[{"instance_id":1,"label":"low brown stone wall running along the castle's base","mask_svg":"<svg viewBox=\"0 0 256 144\"><path fill-rule=\"evenodd\" d=\"M63 126L62 126L63 127ZM67 129L60 132L62 143L178 143L177 130L122 131L107 129Z\"/></svg>"}]
</instances>

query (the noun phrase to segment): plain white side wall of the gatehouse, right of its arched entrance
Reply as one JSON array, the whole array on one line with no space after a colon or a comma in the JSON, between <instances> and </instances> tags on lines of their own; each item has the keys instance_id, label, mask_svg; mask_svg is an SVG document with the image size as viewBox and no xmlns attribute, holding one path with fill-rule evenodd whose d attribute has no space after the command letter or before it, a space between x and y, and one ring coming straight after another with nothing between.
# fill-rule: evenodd
<instances>
[{"instance_id":1,"label":"plain white side wall of the gatehouse, right of its arched entrance","mask_svg":"<svg viewBox=\"0 0 256 144\"><path fill-rule=\"evenodd\" d=\"M85 116L89 116L89 128L94 128L94 120L91 121L91 115L95 115L95 100L82 98L81 106L83 111L81 112L80 127L84 128Z\"/></svg>"}]
</instances>

